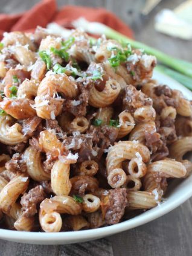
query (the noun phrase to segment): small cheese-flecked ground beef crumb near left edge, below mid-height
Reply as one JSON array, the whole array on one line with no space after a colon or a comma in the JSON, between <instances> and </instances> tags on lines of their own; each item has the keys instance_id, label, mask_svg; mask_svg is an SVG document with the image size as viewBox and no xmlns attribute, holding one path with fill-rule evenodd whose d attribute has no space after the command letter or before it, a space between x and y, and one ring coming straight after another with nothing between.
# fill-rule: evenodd
<instances>
[{"instance_id":1,"label":"small cheese-flecked ground beef crumb near left edge, below mid-height","mask_svg":"<svg viewBox=\"0 0 192 256\"><path fill-rule=\"evenodd\" d=\"M27 171L27 165L24 159L22 159L22 155L19 153L15 153L10 161L6 162L5 167L8 171L13 171L14 173L16 171L21 171L23 173Z\"/></svg>"}]
</instances>

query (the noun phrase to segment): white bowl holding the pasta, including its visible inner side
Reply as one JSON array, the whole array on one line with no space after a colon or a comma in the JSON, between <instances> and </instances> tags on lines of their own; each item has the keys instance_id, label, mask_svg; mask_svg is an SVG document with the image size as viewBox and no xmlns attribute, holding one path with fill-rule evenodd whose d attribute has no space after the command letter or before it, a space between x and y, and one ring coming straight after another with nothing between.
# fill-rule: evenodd
<instances>
[{"instance_id":1,"label":"white bowl holding the pasta, including its visible inner side","mask_svg":"<svg viewBox=\"0 0 192 256\"><path fill-rule=\"evenodd\" d=\"M192 99L191 91L167 75L162 75L161 73L155 71L154 78L156 78L160 83L170 86L171 89L179 89L183 92L186 98ZM85 231L57 233L21 232L0 229L0 238L20 243L59 245L66 243L86 242L89 240L106 237L107 235L112 235L121 231L126 231L127 229L135 228L136 226L140 226L144 223L155 220L158 217L170 212L192 196L191 184L192 176L184 180L174 180L174 182L168 188L168 193L166 196L167 200L161 203L161 205L116 225L106 226L98 229L89 229Z\"/></svg>"}]
</instances>

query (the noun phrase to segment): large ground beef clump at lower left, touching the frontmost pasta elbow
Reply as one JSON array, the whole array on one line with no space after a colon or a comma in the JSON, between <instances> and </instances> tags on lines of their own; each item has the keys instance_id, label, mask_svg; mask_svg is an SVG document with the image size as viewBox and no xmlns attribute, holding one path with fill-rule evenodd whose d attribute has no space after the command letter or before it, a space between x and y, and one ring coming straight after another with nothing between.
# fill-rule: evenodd
<instances>
[{"instance_id":1,"label":"large ground beef clump at lower left, touching the frontmost pasta elbow","mask_svg":"<svg viewBox=\"0 0 192 256\"><path fill-rule=\"evenodd\" d=\"M41 185L32 188L21 197L22 210L25 217L34 216L37 213L37 205L45 199L45 193Z\"/></svg>"}]
</instances>

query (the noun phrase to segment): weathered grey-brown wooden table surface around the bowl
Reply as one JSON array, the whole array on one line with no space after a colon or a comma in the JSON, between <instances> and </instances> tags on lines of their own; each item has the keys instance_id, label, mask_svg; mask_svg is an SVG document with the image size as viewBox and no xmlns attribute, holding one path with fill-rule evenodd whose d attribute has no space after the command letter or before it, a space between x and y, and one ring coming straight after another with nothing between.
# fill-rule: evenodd
<instances>
[{"instance_id":1,"label":"weathered grey-brown wooden table surface around the bowl","mask_svg":"<svg viewBox=\"0 0 192 256\"><path fill-rule=\"evenodd\" d=\"M0 0L1 13L19 13L31 8L38 0ZM154 46L159 50L175 57L192 61L192 42L173 39L164 34L157 33L153 27L155 14L162 8L174 8L181 0L162 0L161 4L150 14L147 19L142 19L139 10L144 5L144 0L59 0L59 6L64 4L87 5L92 7L105 7L114 11L117 16L130 25L135 31L135 38ZM0 240L0 255L100 255L100 256L190 256L192 255L192 199L179 206L167 215L131 229L120 234L112 235L107 240L98 242L98 249L86 252L82 245L73 245L78 253L71 252L71 245L43 246L24 245ZM100 244L106 243L106 250ZM94 248L96 242L91 242ZM111 249L110 249L111 248ZM82 253L81 253L82 252Z\"/></svg>"}]
</instances>

